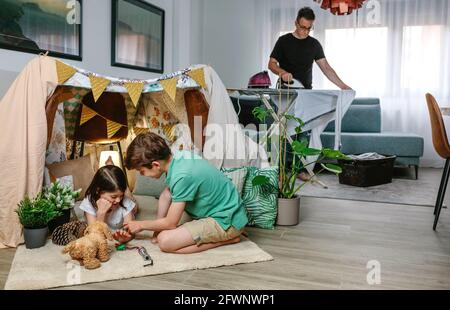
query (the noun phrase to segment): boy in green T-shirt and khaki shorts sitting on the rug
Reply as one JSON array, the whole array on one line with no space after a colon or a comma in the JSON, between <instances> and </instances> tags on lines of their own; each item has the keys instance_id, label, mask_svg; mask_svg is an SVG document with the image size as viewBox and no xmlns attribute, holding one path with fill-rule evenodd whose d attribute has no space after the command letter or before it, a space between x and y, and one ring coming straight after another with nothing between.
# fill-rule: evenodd
<instances>
[{"instance_id":1,"label":"boy in green T-shirt and khaki shorts sitting on the rug","mask_svg":"<svg viewBox=\"0 0 450 310\"><path fill-rule=\"evenodd\" d=\"M124 229L129 233L151 230L161 251L170 253L196 253L240 241L248 219L239 193L206 160L188 151L172 155L163 138L147 133L130 144L125 165L156 179L166 173L168 185L157 219L128 222ZM194 220L178 226L183 211Z\"/></svg>"}]
</instances>

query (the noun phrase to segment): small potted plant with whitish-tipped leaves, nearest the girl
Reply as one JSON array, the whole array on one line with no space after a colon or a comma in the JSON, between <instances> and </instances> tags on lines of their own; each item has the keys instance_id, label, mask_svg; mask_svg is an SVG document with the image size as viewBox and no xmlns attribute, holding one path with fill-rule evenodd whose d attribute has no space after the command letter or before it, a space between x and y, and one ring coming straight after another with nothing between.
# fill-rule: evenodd
<instances>
[{"instance_id":1,"label":"small potted plant with whitish-tipped leaves, nearest the girl","mask_svg":"<svg viewBox=\"0 0 450 310\"><path fill-rule=\"evenodd\" d=\"M80 196L80 192L81 189L73 191L71 186L63 185L59 181L52 183L42 191L42 195L61 213L48 223L50 233L53 233L56 227L70 221L70 211L75 205L75 199Z\"/></svg>"}]
</instances>

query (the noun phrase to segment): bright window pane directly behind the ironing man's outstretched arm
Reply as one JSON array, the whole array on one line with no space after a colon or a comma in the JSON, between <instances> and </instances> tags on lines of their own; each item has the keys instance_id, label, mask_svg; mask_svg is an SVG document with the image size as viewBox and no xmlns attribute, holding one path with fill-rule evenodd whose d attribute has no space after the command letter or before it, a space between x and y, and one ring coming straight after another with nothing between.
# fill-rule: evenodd
<instances>
[{"instance_id":1,"label":"bright window pane directly behind the ironing man's outstretched arm","mask_svg":"<svg viewBox=\"0 0 450 310\"><path fill-rule=\"evenodd\" d=\"M358 95L384 93L387 70L387 27L328 29L325 31L325 56ZM323 88L336 86L324 79Z\"/></svg>"}]
</instances>

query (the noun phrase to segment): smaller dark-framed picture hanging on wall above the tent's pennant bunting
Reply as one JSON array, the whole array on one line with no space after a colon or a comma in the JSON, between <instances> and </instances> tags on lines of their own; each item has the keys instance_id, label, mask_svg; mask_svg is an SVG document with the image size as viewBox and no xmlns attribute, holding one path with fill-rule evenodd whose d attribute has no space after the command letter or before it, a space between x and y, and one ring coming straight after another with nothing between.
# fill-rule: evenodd
<instances>
[{"instance_id":1,"label":"smaller dark-framed picture hanging on wall above the tent's pennant bunting","mask_svg":"<svg viewBox=\"0 0 450 310\"><path fill-rule=\"evenodd\" d=\"M111 20L111 65L163 73L164 10L139 0L113 0Z\"/></svg>"}]
</instances>

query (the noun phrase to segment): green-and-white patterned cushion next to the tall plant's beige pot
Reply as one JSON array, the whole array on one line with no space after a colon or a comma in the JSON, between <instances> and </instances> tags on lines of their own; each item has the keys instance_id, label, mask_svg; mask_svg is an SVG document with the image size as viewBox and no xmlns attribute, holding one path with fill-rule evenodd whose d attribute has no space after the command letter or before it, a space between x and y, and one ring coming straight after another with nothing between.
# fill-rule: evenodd
<instances>
[{"instance_id":1,"label":"green-and-white patterned cushion next to the tall plant's beige pot","mask_svg":"<svg viewBox=\"0 0 450 310\"><path fill-rule=\"evenodd\" d=\"M256 176L267 177L269 184L253 186ZM247 209L249 226L273 229L278 209L278 167L248 167L242 201Z\"/></svg>"}]
</instances>

